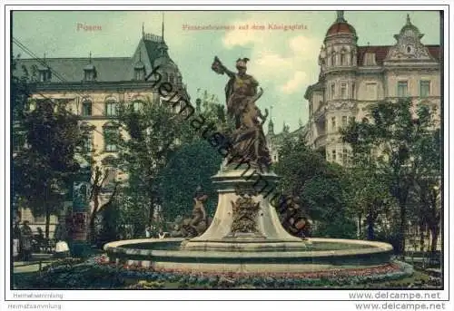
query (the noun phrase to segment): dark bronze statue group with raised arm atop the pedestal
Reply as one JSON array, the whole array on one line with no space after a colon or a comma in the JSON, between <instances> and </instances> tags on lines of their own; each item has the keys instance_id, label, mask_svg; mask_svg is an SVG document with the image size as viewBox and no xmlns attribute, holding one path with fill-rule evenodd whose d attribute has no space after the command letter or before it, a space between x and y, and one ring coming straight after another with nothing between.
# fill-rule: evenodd
<instances>
[{"instance_id":1,"label":"dark bronze statue group with raised arm atop the pedestal","mask_svg":"<svg viewBox=\"0 0 454 311\"><path fill-rule=\"evenodd\" d=\"M216 56L212 63L215 73L227 74L230 77L225 87L227 114L235 121L232 132L231 158L249 162L260 169L268 168L271 163L270 151L266 146L262 124L266 121L268 111L262 114L255 102L262 96L263 90L257 90L259 83L247 74L248 58L236 61L238 73L228 70Z\"/></svg>"}]
</instances>

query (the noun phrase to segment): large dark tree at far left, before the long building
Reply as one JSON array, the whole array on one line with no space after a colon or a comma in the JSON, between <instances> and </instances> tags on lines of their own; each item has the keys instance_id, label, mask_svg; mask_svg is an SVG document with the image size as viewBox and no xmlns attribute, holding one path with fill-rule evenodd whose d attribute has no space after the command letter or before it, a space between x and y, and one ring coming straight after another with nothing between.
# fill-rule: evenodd
<instances>
[{"instance_id":1,"label":"large dark tree at far left, before the long building","mask_svg":"<svg viewBox=\"0 0 454 311\"><path fill-rule=\"evenodd\" d=\"M79 170L74 155L82 148L84 133L78 118L64 102L32 101L24 112L26 145L13 160L13 189L33 213L45 216L49 238L50 215L61 209L67 184Z\"/></svg>"}]
</instances>

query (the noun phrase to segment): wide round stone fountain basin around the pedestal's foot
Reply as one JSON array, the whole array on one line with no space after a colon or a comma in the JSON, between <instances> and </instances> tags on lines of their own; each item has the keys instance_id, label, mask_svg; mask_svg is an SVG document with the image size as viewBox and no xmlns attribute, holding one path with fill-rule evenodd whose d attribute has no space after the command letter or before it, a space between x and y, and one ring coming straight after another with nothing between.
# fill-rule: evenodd
<instances>
[{"instance_id":1,"label":"wide round stone fountain basin around the pedestal's foot","mask_svg":"<svg viewBox=\"0 0 454 311\"><path fill-rule=\"evenodd\" d=\"M376 267L390 262L392 246L341 238L308 238L305 250L217 251L181 248L184 238L143 238L107 243L108 260L162 270L271 273Z\"/></svg>"}]
</instances>

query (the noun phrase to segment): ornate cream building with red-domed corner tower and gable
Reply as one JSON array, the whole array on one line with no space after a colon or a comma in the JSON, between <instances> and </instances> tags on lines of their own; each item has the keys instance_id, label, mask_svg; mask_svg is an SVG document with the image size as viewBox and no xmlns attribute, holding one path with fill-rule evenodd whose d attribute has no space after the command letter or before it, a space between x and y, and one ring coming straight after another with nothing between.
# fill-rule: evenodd
<instances>
[{"instance_id":1,"label":"ornate cream building with red-domed corner tower and gable","mask_svg":"<svg viewBox=\"0 0 454 311\"><path fill-rule=\"evenodd\" d=\"M328 28L319 55L319 80L304 95L309 102L307 141L326 159L347 164L350 148L340 129L367 121L370 103L410 97L429 105L439 120L440 48L424 45L424 34L407 15L393 45L358 45L355 28L343 11Z\"/></svg>"}]
</instances>

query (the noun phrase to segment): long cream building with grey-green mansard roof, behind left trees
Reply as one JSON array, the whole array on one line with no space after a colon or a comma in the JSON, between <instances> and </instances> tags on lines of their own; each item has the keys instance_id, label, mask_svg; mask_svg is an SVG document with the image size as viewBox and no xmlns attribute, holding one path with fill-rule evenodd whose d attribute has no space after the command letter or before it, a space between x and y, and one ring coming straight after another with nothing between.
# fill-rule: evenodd
<instances>
[{"instance_id":1,"label":"long cream building with grey-green mansard roof, behind left trees","mask_svg":"<svg viewBox=\"0 0 454 311\"><path fill-rule=\"evenodd\" d=\"M93 57L89 53L89 57L84 58L17 60L14 74L28 74L34 86L32 99L37 105L48 99L64 102L71 112L81 116L81 126L91 133L84 147L94 160L92 166L101 165L109 171L104 182L105 198L109 196L112 181L126 179L112 166L117 146L110 138L112 133L119 131L113 122L117 104L129 102L134 109L140 109L147 100L162 102L156 88L152 88L153 81L146 79L156 66L160 66L162 82L171 83L173 92L179 92L188 102L190 100L182 74L168 50L164 32L156 35L143 31L133 55L125 57ZM22 220L29 220L33 228L44 226L44 217L34 218L29 209L22 209L21 214ZM56 221L56 217L52 217L51 222L56 224ZM54 226L51 227L52 230Z\"/></svg>"}]
</instances>

